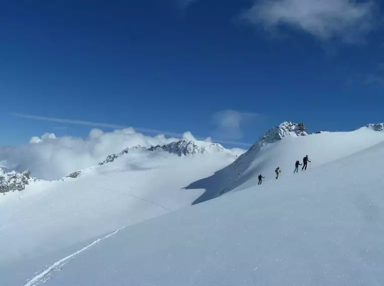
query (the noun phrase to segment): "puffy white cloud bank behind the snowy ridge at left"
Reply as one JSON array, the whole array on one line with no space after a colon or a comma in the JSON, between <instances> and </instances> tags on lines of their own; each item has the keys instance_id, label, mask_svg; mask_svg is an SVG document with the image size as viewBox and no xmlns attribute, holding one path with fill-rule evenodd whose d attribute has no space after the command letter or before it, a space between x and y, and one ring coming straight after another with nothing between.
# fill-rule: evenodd
<instances>
[{"instance_id":1,"label":"puffy white cloud bank behind the snowy ridge at left","mask_svg":"<svg viewBox=\"0 0 384 286\"><path fill-rule=\"evenodd\" d=\"M180 138L180 137L179 137ZM32 137L29 144L18 147L0 147L0 166L7 169L31 171L34 177L56 180L70 173L102 162L106 156L136 145L162 145L178 140L165 135L147 136L133 128L113 132L92 129L88 137L56 137L45 133ZM195 140L191 132L185 132L183 139ZM241 153L234 149L235 154Z\"/></svg>"}]
</instances>

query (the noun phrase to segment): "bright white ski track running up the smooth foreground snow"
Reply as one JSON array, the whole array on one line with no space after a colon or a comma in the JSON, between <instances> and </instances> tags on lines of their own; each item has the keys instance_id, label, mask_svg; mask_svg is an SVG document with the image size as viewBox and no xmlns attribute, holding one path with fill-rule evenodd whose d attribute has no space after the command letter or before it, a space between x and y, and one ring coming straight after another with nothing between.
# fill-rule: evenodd
<instances>
[{"instance_id":1,"label":"bright white ski track running up the smooth foreground snow","mask_svg":"<svg viewBox=\"0 0 384 286\"><path fill-rule=\"evenodd\" d=\"M60 259L59 261L56 261L51 266L49 266L47 269L45 269L43 272L41 272L40 274L38 274L38 275L32 277L31 279L29 279L29 281L27 283L25 283L24 286L36 286L36 285L39 285L40 282L43 282L43 283L46 282L48 279L50 279L50 277L47 277L47 275L49 275L52 271L60 270L63 265L65 265L66 263L69 262L69 260L71 260L72 258L77 256L81 252L91 248L93 245L96 245L97 243L103 241L104 239L112 236L113 234L117 233L118 231L120 231L123 228L124 227L119 228L119 229L115 230L114 232L108 234L107 236L104 236L102 238L99 238L99 239L93 241L91 244L88 244L84 248L76 251L75 253L72 253L72 254L68 255L67 257L64 257L63 259Z\"/></svg>"}]
</instances>

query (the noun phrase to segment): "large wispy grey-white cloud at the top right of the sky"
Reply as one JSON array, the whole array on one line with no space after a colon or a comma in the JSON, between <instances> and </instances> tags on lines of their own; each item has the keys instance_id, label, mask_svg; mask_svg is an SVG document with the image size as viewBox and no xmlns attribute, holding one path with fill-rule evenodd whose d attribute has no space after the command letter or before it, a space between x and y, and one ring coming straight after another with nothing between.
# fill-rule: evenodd
<instances>
[{"instance_id":1,"label":"large wispy grey-white cloud at the top right of the sky","mask_svg":"<svg viewBox=\"0 0 384 286\"><path fill-rule=\"evenodd\" d=\"M267 30L285 24L321 40L353 43L375 28L374 9L373 1L261 0L240 18Z\"/></svg>"}]
</instances>

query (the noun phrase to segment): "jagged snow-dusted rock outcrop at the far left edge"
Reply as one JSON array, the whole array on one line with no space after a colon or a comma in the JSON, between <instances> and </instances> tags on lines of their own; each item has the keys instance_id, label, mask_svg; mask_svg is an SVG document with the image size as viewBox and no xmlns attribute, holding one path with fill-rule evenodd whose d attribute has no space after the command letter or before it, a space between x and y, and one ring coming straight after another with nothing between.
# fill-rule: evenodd
<instances>
[{"instance_id":1,"label":"jagged snow-dusted rock outcrop at the far left edge","mask_svg":"<svg viewBox=\"0 0 384 286\"><path fill-rule=\"evenodd\" d=\"M26 185L36 181L41 180L31 177L28 170L18 173L16 171L7 172L4 168L0 168L0 193L22 191Z\"/></svg>"}]
</instances>

